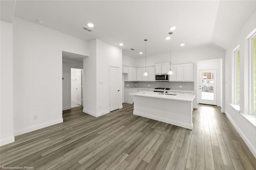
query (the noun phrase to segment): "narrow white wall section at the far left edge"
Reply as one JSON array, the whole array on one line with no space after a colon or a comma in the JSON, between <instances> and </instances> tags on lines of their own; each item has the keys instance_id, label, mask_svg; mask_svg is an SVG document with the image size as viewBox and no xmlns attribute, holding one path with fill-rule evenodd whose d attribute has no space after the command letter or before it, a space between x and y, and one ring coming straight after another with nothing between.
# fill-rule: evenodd
<instances>
[{"instance_id":1,"label":"narrow white wall section at the far left edge","mask_svg":"<svg viewBox=\"0 0 256 170\"><path fill-rule=\"evenodd\" d=\"M0 146L14 142L12 23L0 21Z\"/></svg>"}]
</instances>

